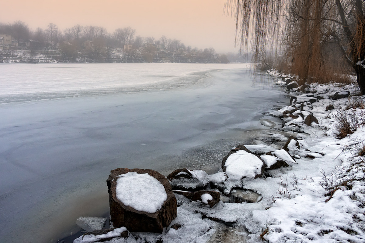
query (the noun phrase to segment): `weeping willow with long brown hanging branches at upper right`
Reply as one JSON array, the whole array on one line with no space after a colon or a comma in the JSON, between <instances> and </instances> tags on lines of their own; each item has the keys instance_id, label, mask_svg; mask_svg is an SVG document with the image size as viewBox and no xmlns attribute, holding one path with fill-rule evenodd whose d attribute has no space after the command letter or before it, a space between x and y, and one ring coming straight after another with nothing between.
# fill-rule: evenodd
<instances>
[{"instance_id":1,"label":"weeping willow with long brown hanging branches at upper right","mask_svg":"<svg viewBox=\"0 0 365 243\"><path fill-rule=\"evenodd\" d=\"M352 72L365 94L365 1L226 0L226 7L236 44L251 47L256 61L274 49L302 83L343 81Z\"/></svg>"}]
</instances>

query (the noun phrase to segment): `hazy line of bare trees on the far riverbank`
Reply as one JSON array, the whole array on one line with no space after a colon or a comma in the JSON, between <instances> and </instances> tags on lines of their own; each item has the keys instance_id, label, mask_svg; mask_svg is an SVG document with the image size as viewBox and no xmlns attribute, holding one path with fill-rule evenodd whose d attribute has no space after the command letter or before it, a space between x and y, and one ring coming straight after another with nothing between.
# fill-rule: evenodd
<instances>
[{"instance_id":1,"label":"hazy line of bare trees on the far riverbank","mask_svg":"<svg viewBox=\"0 0 365 243\"><path fill-rule=\"evenodd\" d=\"M180 40L162 35L136 36L131 27L108 33L104 27L75 25L60 30L50 23L47 29L29 29L22 21L0 23L0 35L11 35L12 45L4 49L27 49L57 57L58 61L95 62L187 62L228 63L247 60L247 55L218 54L215 49L186 46ZM4 51L3 51L4 52Z\"/></svg>"}]
</instances>

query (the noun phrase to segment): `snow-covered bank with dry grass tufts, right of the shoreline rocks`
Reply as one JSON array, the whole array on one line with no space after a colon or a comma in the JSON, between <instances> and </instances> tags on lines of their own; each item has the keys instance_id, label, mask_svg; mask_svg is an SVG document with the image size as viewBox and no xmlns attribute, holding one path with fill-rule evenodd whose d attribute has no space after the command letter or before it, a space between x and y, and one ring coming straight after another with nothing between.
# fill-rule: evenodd
<instances>
[{"instance_id":1,"label":"snow-covered bank with dry grass tufts, right of the shoreline rocks","mask_svg":"<svg viewBox=\"0 0 365 243\"><path fill-rule=\"evenodd\" d=\"M282 75L271 74L283 84ZM344 90L350 91L349 98L331 99ZM255 144L279 151L283 142L277 141L293 136L300 145L289 147L295 158L289 167L238 180L236 186L261 194L261 201L231 203L222 195L222 201L208 208L176 194L179 207L171 225L183 225L180 228L167 228L161 235L128 232L127 238L120 236L125 229L116 229L115 234L107 233L115 237L107 241L105 234L74 242L364 242L365 97L356 95L355 85L312 84L307 91L311 93L289 93L296 97L292 106L277 107L260 120L270 128L269 136L254 139ZM284 116L286 111L292 116ZM318 124L304 124L309 115ZM284 126L276 117L283 117ZM341 118L347 119L353 133L338 139Z\"/></svg>"}]
</instances>

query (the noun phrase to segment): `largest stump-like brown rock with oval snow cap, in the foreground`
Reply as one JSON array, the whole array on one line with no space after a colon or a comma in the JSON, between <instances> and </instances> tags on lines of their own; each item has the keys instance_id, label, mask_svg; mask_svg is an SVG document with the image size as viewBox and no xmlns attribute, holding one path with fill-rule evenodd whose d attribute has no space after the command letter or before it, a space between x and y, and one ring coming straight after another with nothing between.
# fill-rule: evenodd
<instances>
[{"instance_id":1,"label":"largest stump-like brown rock with oval snow cap, in the foreground","mask_svg":"<svg viewBox=\"0 0 365 243\"><path fill-rule=\"evenodd\" d=\"M119 168L107 180L114 227L162 233L177 216L176 198L165 176L151 169Z\"/></svg>"}]
</instances>

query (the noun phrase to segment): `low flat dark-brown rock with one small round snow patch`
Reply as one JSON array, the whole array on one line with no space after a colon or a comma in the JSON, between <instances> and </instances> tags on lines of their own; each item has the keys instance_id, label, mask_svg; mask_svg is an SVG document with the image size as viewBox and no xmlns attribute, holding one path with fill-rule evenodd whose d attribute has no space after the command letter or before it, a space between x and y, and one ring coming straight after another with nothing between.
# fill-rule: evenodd
<instances>
[{"instance_id":1,"label":"low flat dark-brown rock with one small round snow patch","mask_svg":"<svg viewBox=\"0 0 365 243\"><path fill-rule=\"evenodd\" d=\"M174 190L174 193L183 195L191 201L200 202L203 205L208 205L212 208L219 202L220 193L218 191L180 191Z\"/></svg>"}]
</instances>

